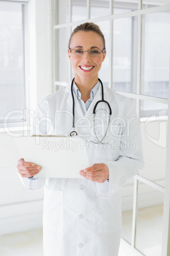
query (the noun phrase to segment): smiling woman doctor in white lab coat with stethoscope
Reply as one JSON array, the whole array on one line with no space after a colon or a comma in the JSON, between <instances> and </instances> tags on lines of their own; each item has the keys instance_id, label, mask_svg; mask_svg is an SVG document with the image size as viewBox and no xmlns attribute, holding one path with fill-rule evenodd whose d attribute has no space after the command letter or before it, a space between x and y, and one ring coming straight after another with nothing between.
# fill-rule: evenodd
<instances>
[{"instance_id":1,"label":"smiling woman doctor in white lab coat with stethoscope","mask_svg":"<svg viewBox=\"0 0 170 256\"><path fill-rule=\"evenodd\" d=\"M106 55L98 25L77 26L68 55L75 78L38 104L34 134L77 132L87 141L89 166L79 179L34 178L41 166L20 159L18 173L27 188L44 186L45 256L117 256L121 187L143 167L140 125L131 101L98 79Z\"/></svg>"}]
</instances>

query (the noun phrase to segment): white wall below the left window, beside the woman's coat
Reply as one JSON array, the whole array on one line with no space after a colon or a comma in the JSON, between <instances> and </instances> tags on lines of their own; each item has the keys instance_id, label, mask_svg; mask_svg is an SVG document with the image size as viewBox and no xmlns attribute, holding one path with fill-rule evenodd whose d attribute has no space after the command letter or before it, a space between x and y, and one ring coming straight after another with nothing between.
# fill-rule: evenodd
<instances>
[{"instance_id":1,"label":"white wall below the left window, beside the woman's coat","mask_svg":"<svg viewBox=\"0 0 170 256\"><path fill-rule=\"evenodd\" d=\"M22 185L13 138L1 132L0 141L0 235L42 227L43 190L30 191Z\"/></svg>"}]
</instances>

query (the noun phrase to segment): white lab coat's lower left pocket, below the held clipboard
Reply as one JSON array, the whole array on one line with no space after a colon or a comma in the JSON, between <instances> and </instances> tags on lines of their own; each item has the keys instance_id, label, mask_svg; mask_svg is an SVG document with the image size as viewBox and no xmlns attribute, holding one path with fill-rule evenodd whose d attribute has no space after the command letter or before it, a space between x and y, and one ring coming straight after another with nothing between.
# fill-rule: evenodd
<instances>
[{"instance_id":1,"label":"white lab coat's lower left pocket, below the held clipboard","mask_svg":"<svg viewBox=\"0 0 170 256\"><path fill-rule=\"evenodd\" d=\"M44 228L63 232L63 191L44 188Z\"/></svg>"}]
</instances>

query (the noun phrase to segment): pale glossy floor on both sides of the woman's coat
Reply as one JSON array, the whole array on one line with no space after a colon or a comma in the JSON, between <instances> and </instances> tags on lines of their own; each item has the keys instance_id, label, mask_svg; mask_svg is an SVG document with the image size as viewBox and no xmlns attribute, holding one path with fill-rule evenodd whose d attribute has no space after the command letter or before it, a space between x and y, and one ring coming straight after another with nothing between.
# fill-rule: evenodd
<instances>
[{"instance_id":1,"label":"pale glossy floor on both sides of the woman's coat","mask_svg":"<svg viewBox=\"0 0 170 256\"><path fill-rule=\"evenodd\" d=\"M123 213L122 234L131 239L132 213ZM160 256L162 229L162 206L150 207L138 211L136 245L143 248L147 256ZM34 230L8 236L0 236L1 256L43 256L42 230ZM138 256L140 253L131 248L123 239L119 256Z\"/></svg>"}]
</instances>

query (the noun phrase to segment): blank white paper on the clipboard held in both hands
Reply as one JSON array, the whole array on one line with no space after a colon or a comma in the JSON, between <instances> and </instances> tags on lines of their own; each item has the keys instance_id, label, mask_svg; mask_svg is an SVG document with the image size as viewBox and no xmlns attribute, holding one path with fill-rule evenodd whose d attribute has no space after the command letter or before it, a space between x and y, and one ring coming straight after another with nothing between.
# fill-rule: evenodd
<instances>
[{"instance_id":1,"label":"blank white paper on the clipboard held in both hands","mask_svg":"<svg viewBox=\"0 0 170 256\"><path fill-rule=\"evenodd\" d=\"M42 167L35 177L82 178L79 171L89 166L86 141L79 137L33 136L14 138L25 162Z\"/></svg>"}]
</instances>

